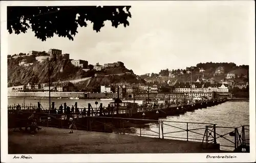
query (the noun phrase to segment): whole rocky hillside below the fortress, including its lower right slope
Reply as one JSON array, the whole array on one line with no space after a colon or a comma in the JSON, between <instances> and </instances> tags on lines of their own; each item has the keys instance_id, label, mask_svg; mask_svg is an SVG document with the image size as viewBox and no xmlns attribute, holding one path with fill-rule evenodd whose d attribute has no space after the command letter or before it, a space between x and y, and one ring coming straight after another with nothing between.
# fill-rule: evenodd
<instances>
[{"instance_id":1,"label":"whole rocky hillside below the fortress, including its lower right slope","mask_svg":"<svg viewBox=\"0 0 256 163\"><path fill-rule=\"evenodd\" d=\"M78 88L99 87L100 85L111 85L116 83L145 83L143 79L133 74L132 70L125 67L105 68L101 71L83 71L82 68L75 67L69 60L51 60L42 63L33 61L33 65L28 67L19 66L19 62L24 58L8 60L8 87L12 85L26 85L28 83L48 83L49 76L51 82L63 80L73 80L84 77L92 77L90 80L77 84ZM49 71L50 70L50 71ZM49 75L50 72L50 75ZM95 77L95 74L101 76Z\"/></svg>"}]
</instances>

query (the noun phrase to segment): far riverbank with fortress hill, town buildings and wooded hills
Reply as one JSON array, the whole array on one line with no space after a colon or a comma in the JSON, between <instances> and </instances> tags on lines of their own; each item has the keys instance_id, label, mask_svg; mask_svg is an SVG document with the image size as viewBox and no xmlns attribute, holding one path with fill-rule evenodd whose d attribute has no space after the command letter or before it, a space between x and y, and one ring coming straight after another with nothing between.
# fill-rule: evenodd
<instances>
[{"instance_id":1,"label":"far riverbank with fortress hill, town buildings and wooded hills","mask_svg":"<svg viewBox=\"0 0 256 163\"><path fill-rule=\"evenodd\" d=\"M119 96L127 99L146 98L147 96L158 99L179 97L181 100L191 97L248 96L249 68L247 65L237 66L234 63L200 63L186 69L166 69L159 73L147 73L139 76L132 70L126 69L124 63L120 61L91 65L85 60L70 59L70 54L62 54L62 50L49 49L48 52L32 50L28 54L8 55L8 71L17 68L31 71L29 68L34 68L38 64L45 63L47 65L48 59L55 63L64 61L60 68L54 67L52 70L59 69L56 75L65 73L65 71L71 74L80 73L79 77L69 80L64 80L61 77L56 78L55 81L52 79L50 89L56 94L57 92L81 92L84 95L79 94L79 98L116 98L119 87ZM16 67L13 66L13 63L17 64ZM77 68L76 71L72 67L65 68L69 63ZM46 67L44 71L47 72ZM32 74L34 75L35 72ZM12 84L12 81L15 81L14 77L19 80L19 76L8 75L8 83L11 85L8 87L10 96L37 96L28 92L49 92L49 80L47 81L46 74L35 75L33 78L28 78L27 83L16 85ZM40 78L40 75L45 77L45 80L41 80L45 83L40 83L40 79L34 80L34 78ZM62 95L56 96L61 97ZM47 94L40 96L47 96ZM70 96L74 95L69 94L68 97Z\"/></svg>"}]
</instances>

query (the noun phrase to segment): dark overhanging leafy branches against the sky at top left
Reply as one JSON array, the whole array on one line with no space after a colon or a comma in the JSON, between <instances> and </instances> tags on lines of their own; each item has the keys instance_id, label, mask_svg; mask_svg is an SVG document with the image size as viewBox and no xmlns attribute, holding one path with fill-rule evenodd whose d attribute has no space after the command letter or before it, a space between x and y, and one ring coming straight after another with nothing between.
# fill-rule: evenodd
<instances>
[{"instance_id":1,"label":"dark overhanging leafy branches against the sky at top left","mask_svg":"<svg viewBox=\"0 0 256 163\"><path fill-rule=\"evenodd\" d=\"M10 34L26 33L32 29L35 36L46 41L54 34L74 40L78 25L93 23L93 30L100 32L104 21L110 20L115 28L129 25L131 6L8 6L7 30Z\"/></svg>"}]
</instances>

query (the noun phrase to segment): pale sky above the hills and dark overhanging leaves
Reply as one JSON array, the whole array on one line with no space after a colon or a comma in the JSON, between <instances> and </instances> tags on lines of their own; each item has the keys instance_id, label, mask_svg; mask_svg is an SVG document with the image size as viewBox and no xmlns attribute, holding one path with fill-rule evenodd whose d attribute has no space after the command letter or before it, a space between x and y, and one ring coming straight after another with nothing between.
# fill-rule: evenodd
<instances>
[{"instance_id":1,"label":"pale sky above the hills and dark overhanging leaves","mask_svg":"<svg viewBox=\"0 0 256 163\"><path fill-rule=\"evenodd\" d=\"M105 22L96 33L91 24L78 28L74 41L54 36L42 42L31 30L8 34L8 54L57 48L93 65L122 61L138 75L200 62L249 65L254 1L155 1L131 6L126 28Z\"/></svg>"}]
</instances>

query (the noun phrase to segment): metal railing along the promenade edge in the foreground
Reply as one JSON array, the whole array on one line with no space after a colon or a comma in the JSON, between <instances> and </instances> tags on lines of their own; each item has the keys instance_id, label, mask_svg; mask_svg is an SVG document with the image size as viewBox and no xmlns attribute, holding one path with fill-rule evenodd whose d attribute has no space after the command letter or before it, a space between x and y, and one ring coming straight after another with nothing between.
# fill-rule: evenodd
<instances>
[{"instance_id":1,"label":"metal railing along the promenade edge in the foreground","mask_svg":"<svg viewBox=\"0 0 256 163\"><path fill-rule=\"evenodd\" d=\"M45 120L44 123L38 123L39 125L48 127L68 128L68 125L64 125L64 121L68 122L68 118L73 117L77 129L81 130L115 132L119 134L137 135L139 137L144 136L159 139L201 142L202 147L205 148L218 143L221 147L229 147L227 150L237 149L241 145L249 145L249 138L247 138L249 135L249 126L246 125L241 127L221 127L217 126L217 124L198 122L84 117L79 115L62 116L57 114L42 114L41 116L51 117L51 120L47 118L47 121ZM54 116L57 116L55 124L52 123ZM231 131L227 129L231 129ZM223 141L223 139L226 140L226 142Z\"/></svg>"}]
</instances>

